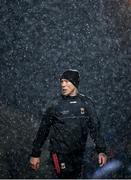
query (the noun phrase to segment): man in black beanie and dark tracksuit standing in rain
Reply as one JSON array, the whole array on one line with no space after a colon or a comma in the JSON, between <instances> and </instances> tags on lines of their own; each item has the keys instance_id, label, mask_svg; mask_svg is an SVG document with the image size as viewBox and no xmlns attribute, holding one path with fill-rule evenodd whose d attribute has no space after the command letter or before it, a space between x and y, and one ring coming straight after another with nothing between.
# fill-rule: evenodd
<instances>
[{"instance_id":1,"label":"man in black beanie and dark tracksuit standing in rain","mask_svg":"<svg viewBox=\"0 0 131 180\"><path fill-rule=\"evenodd\" d=\"M50 155L57 178L80 178L88 132L96 144L100 166L106 163L104 140L91 100L79 94L79 73L67 70L60 77L62 95L47 108L33 142L30 163L40 167L41 148L50 132Z\"/></svg>"}]
</instances>

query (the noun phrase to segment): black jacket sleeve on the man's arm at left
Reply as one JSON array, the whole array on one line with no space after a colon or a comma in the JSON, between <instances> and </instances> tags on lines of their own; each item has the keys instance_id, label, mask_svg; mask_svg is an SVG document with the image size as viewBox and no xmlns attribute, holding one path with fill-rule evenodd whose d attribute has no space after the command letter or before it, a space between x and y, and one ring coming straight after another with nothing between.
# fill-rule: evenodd
<instances>
[{"instance_id":1,"label":"black jacket sleeve on the man's arm at left","mask_svg":"<svg viewBox=\"0 0 131 180\"><path fill-rule=\"evenodd\" d=\"M43 115L38 132L33 141L32 157L40 157L41 155L41 148L48 137L52 125L52 116L52 108L48 108Z\"/></svg>"}]
</instances>

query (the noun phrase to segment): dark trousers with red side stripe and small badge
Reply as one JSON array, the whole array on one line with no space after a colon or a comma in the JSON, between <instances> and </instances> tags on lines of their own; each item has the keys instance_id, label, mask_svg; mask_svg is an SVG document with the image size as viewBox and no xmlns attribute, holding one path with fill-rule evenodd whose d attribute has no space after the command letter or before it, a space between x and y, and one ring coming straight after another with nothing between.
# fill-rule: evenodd
<instances>
[{"instance_id":1,"label":"dark trousers with red side stripe and small badge","mask_svg":"<svg viewBox=\"0 0 131 180\"><path fill-rule=\"evenodd\" d=\"M53 153L54 154L54 153ZM57 157L56 157L57 155ZM57 179L79 179L82 174L82 159L83 154L78 151L73 151L68 154L55 153L55 160L52 158L53 173L52 178ZM56 164L55 165L55 162Z\"/></svg>"}]
</instances>

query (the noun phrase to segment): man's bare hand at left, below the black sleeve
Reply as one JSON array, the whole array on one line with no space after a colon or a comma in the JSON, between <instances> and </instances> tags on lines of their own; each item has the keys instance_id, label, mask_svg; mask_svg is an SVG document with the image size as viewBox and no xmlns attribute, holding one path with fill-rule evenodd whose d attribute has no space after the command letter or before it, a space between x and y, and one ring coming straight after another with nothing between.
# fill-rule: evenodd
<instances>
[{"instance_id":1,"label":"man's bare hand at left, below the black sleeve","mask_svg":"<svg viewBox=\"0 0 131 180\"><path fill-rule=\"evenodd\" d=\"M37 171L40 168L40 157L31 157L30 165L32 169Z\"/></svg>"}]
</instances>

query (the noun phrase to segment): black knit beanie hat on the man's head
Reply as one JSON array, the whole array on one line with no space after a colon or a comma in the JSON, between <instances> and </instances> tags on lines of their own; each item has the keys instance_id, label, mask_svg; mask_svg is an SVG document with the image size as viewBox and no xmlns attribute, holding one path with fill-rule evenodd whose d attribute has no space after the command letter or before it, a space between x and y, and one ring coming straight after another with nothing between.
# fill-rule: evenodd
<instances>
[{"instance_id":1,"label":"black knit beanie hat on the man's head","mask_svg":"<svg viewBox=\"0 0 131 180\"><path fill-rule=\"evenodd\" d=\"M69 69L67 71L65 71L61 77L61 79L67 79L68 81L70 81L75 87L78 88L79 85L79 81L80 81L80 75L79 72L77 70L74 69Z\"/></svg>"}]
</instances>

